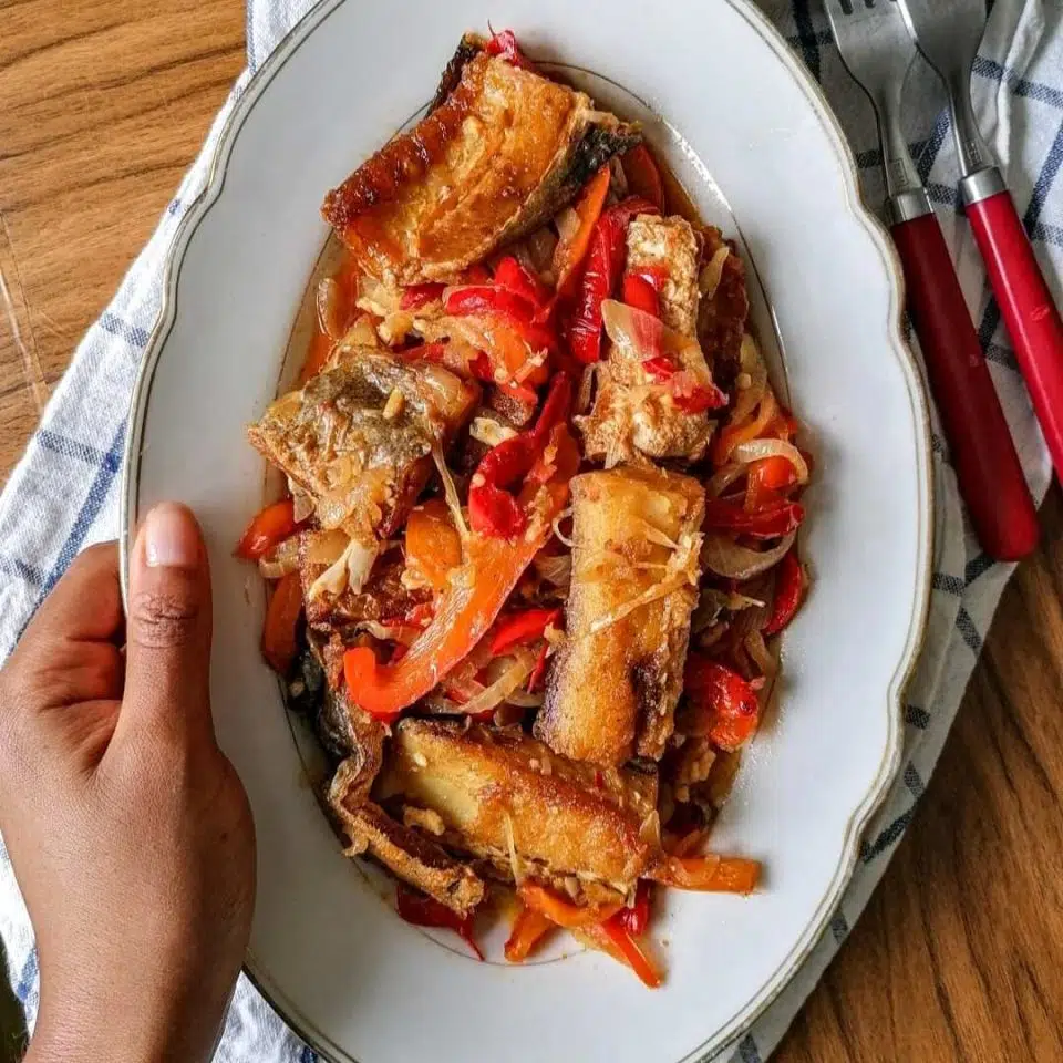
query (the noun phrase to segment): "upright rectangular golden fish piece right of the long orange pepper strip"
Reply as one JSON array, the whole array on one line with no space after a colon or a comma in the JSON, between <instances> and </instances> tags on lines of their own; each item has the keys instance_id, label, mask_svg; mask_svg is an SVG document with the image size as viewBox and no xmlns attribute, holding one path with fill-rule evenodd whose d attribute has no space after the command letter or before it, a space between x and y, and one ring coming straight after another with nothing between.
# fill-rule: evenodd
<instances>
[{"instance_id":1,"label":"upright rectangular golden fish piece right of the long orange pepper strip","mask_svg":"<svg viewBox=\"0 0 1063 1063\"><path fill-rule=\"evenodd\" d=\"M641 466L584 473L571 488L566 640L535 734L574 760L622 764L638 754L658 761L674 727L698 601L704 488L690 476ZM673 550L654 540L661 536L690 555L678 586L598 630L669 578L664 566Z\"/></svg>"}]
</instances>

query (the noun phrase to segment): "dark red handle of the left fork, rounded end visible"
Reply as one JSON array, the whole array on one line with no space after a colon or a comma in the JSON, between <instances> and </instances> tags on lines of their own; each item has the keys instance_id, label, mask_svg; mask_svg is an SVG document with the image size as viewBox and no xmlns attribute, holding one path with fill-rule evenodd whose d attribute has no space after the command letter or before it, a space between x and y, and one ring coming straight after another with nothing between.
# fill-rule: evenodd
<instances>
[{"instance_id":1,"label":"dark red handle of the left fork, rounded end visible","mask_svg":"<svg viewBox=\"0 0 1063 1063\"><path fill-rule=\"evenodd\" d=\"M1038 545L1038 515L938 219L900 221L892 235L971 523L988 554L1018 560Z\"/></svg>"}]
</instances>

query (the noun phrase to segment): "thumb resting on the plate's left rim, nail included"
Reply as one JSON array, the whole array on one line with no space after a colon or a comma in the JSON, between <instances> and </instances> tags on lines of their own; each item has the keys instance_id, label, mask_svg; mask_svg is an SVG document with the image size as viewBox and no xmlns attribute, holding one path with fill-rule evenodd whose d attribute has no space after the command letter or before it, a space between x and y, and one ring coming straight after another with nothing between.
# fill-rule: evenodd
<instances>
[{"instance_id":1,"label":"thumb resting on the plate's left rim, nail included","mask_svg":"<svg viewBox=\"0 0 1063 1063\"><path fill-rule=\"evenodd\" d=\"M118 730L213 733L210 572L199 525L186 506L162 503L130 558L125 696Z\"/></svg>"}]
</instances>

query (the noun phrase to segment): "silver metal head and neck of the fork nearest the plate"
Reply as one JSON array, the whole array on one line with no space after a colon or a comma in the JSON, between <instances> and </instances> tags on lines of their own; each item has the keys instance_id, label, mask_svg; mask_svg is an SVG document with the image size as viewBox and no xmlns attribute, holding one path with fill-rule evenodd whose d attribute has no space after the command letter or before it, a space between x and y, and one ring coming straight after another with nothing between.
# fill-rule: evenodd
<instances>
[{"instance_id":1,"label":"silver metal head and neck of the fork nearest the plate","mask_svg":"<svg viewBox=\"0 0 1063 1063\"><path fill-rule=\"evenodd\" d=\"M916 45L896 0L824 0L846 69L875 107L888 207L894 220L929 213L930 203L911 161L900 104Z\"/></svg>"}]
</instances>

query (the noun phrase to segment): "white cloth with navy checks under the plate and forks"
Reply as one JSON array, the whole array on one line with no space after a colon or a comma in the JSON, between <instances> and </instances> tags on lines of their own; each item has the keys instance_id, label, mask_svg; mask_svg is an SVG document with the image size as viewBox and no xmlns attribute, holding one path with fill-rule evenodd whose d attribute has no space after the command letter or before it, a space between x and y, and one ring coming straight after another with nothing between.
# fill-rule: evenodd
<instances>
[{"instance_id":1,"label":"white cloth with navy checks under the plate and forks","mask_svg":"<svg viewBox=\"0 0 1063 1063\"><path fill-rule=\"evenodd\" d=\"M249 0L248 70L234 85L203 151L114 300L79 344L41 426L0 496L0 660L10 653L33 611L79 550L117 535L128 395L159 312L163 264L178 219L204 187L226 116L249 78L310 7L310 0ZM761 7L823 85L848 135L865 197L878 207L884 187L874 115L863 93L854 91L819 4L815 0L762 0ZM1063 6L1055 0L990 0L990 7L989 27L974 64L974 106L1060 301ZM956 151L943 104L937 79L922 66L909 82L906 99L912 154L957 262L1026 478L1040 500L1051 467L1000 309L985 287L970 230L958 211ZM1012 565L994 564L973 539L936 420L933 476L933 592L926 642L905 706L902 770L861 842L856 873L826 932L751 1031L716 1060L765 1060L859 917L933 772L1013 570ZM33 932L2 845L0 933L12 985L32 1029L39 1003ZM310 1063L318 1056L241 976L215 1059L219 1063Z\"/></svg>"}]
</instances>

